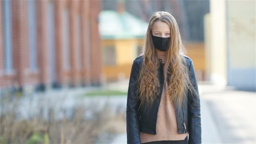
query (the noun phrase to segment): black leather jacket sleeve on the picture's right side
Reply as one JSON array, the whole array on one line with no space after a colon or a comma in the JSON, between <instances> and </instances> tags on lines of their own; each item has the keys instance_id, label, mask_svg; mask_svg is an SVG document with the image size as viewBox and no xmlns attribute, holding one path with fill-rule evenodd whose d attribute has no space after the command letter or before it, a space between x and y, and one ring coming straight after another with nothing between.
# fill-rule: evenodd
<instances>
[{"instance_id":1,"label":"black leather jacket sleeve on the picture's right side","mask_svg":"<svg viewBox=\"0 0 256 144\"><path fill-rule=\"evenodd\" d=\"M201 112L200 112L200 96L198 92L197 79L193 61L191 60L189 66L189 78L192 82L196 93L189 92L188 100L188 115L189 115L189 144L201 144Z\"/></svg>"}]
</instances>

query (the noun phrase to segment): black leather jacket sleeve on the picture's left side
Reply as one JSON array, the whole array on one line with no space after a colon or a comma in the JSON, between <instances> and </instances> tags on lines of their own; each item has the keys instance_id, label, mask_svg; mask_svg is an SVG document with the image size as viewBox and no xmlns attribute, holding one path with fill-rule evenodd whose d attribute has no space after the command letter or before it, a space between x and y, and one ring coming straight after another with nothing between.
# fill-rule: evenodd
<instances>
[{"instance_id":1,"label":"black leather jacket sleeve on the picture's left side","mask_svg":"<svg viewBox=\"0 0 256 144\"><path fill-rule=\"evenodd\" d=\"M135 101L136 97L136 80L138 76L138 68L135 60L131 67L131 75L128 86L127 106L126 106L126 133L127 144L141 144L139 132L139 115L138 104Z\"/></svg>"}]
</instances>

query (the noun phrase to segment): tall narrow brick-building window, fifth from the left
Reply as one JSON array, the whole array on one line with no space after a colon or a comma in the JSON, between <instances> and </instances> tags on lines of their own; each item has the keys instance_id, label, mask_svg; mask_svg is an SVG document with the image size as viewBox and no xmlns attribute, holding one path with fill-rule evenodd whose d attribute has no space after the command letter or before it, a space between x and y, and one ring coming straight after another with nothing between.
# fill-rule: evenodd
<instances>
[{"instance_id":1,"label":"tall narrow brick-building window, fifth from the left","mask_svg":"<svg viewBox=\"0 0 256 144\"><path fill-rule=\"evenodd\" d=\"M82 67L82 45L81 45L81 20L80 16L77 14L75 16L75 35L76 35L76 45L75 45L75 52L76 52L76 67L78 69L81 69Z\"/></svg>"}]
</instances>

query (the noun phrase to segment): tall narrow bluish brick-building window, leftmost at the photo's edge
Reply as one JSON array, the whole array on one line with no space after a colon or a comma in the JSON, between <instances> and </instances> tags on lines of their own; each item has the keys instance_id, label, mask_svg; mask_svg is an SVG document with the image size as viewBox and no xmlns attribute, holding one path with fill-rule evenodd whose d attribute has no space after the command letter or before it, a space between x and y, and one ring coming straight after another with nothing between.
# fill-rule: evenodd
<instances>
[{"instance_id":1,"label":"tall narrow bluish brick-building window, leftmost at the photo's edge","mask_svg":"<svg viewBox=\"0 0 256 144\"><path fill-rule=\"evenodd\" d=\"M13 55L11 43L11 1L3 0L3 31L4 31L4 69L13 70Z\"/></svg>"}]
</instances>

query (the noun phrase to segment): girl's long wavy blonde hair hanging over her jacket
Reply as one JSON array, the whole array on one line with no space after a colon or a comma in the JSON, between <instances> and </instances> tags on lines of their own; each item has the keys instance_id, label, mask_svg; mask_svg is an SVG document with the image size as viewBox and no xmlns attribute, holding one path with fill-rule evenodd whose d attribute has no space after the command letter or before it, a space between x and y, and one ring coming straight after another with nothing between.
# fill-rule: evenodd
<instances>
[{"instance_id":1,"label":"girl's long wavy blonde hair hanging over her jacket","mask_svg":"<svg viewBox=\"0 0 256 144\"><path fill-rule=\"evenodd\" d=\"M185 48L181 40L179 26L174 17L166 11L155 12L149 21L147 33L144 40L144 45L140 56L143 56L141 69L137 79L138 88L137 100L141 105L152 106L156 101L157 95L160 93L160 82L157 79L157 69L160 67L160 61L157 58L154 45L152 43L151 31L152 26L156 21L163 21L170 27L171 36L169 48L166 53L165 64L163 66L164 77L170 75L165 79L168 83L167 98L168 101L176 100L179 107L181 103L187 98L186 89L196 92L189 80L189 70L186 65L184 57Z\"/></svg>"}]
</instances>

